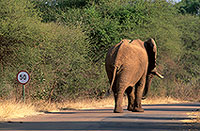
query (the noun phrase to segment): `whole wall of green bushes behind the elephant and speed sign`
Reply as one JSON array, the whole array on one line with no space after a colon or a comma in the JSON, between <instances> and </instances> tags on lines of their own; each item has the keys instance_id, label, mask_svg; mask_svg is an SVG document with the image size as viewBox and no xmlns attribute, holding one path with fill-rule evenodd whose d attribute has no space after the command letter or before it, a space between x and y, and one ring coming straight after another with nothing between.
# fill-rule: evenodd
<instances>
[{"instance_id":1,"label":"whole wall of green bushes behind the elephant and speed sign","mask_svg":"<svg viewBox=\"0 0 200 131\"><path fill-rule=\"evenodd\" d=\"M200 102L199 8L196 0L0 0L0 99L19 104L16 74L26 70L27 101L101 100L109 47L152 37L165 78L153 79L149 98Z\"/></svg>"}]
</instances>

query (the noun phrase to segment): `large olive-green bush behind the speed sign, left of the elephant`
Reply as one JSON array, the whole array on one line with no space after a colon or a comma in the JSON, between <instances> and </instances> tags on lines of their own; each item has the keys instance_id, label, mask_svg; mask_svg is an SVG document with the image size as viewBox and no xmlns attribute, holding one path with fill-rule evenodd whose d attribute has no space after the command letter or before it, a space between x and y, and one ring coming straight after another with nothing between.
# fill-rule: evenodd
<instances>
[{"instance_id":1,"label":"large olive-green bush behind the speed sign, left of the elephant","mask_svg":"<svg viewBox=\"0 0 200 131\"><path fill-rule=\"evenodd\" d=\"M5 2L3 6L5 10L2 9L1 13L5 14L5 19L0 21L2 96L15 94L15 89L8 88L12 86L21 94L20 85L15 78L22 69L31 75L27 92L34 99L48 99L54 86L56 100L78 96L70 92L77 92L79 88L94 88L89 85L96 83L94 79L102 71L98 71L87 56L87 36L81 27L42 23L33 4L27 0ZM26 11L29 6L32 8ZM5 13L10 10L12 13ZM101 87L105 87L104 85ZM15 95L19 97L18 94Z\"/></svg>"}]
</instances>

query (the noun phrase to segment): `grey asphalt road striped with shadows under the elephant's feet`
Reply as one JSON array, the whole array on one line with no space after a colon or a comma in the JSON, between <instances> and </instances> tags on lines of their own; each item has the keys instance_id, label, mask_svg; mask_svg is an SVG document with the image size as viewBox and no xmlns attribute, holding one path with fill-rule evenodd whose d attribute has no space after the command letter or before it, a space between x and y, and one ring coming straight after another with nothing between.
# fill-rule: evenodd
<instances>
[{"instance_id":1,"label":"grey asphalt road striped with shadows under the elephant's feet","mask_svg":"<svg viewBox=\"0 0 200 131\"><path fill-rule=\"evenodd\" d=\"M0 130L103 130L173 131L200 130L200 124L186 123L188 113L199 111L200 103L143 105L145 112L113 113L112 108L63 110L0 122Z\"/></svg>"}]
</instances>

